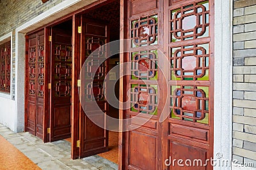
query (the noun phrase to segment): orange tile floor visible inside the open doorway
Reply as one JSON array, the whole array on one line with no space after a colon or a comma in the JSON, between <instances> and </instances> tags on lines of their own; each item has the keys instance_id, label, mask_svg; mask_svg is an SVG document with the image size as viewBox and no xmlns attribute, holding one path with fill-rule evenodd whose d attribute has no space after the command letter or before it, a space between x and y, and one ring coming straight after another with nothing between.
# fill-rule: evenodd
<instances>
[{"instance_id":1,"label":"orange tile floor visible inside the open doorway","mask_svg":"<svg viewBox=\"0 0 256 170\"><path fill-rule=\"evenodd\" d=\"M100 157L118 164L118 132L109 131L109 151L98 154Z\"/></svg>"}]
</instances>

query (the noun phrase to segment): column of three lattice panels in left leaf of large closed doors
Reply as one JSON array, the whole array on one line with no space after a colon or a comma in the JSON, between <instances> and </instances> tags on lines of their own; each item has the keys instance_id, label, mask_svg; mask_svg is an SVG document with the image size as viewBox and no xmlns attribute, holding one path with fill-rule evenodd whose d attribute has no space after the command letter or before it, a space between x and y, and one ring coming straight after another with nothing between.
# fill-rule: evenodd
<instances>
[{"instance_id":1,"label":"column of three lattice panels in left leaf of large closed doors","mask_svg":"<svg viewBox=\"0 0 256 170\"><path fill-rule=\"evenodd\" d=\"M131 48L135 49L130 53L131 111L157 115L158 14L132 19L130 24ZM141 83L141 80L147 80L147 83Z\"/></svg>"}]
</instances>

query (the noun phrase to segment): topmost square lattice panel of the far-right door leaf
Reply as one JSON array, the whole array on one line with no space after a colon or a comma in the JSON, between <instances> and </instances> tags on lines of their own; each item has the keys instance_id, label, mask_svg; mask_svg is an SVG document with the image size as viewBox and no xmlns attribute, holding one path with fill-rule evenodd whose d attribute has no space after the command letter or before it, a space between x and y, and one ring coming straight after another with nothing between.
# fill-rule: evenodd
<instances>
[{"instance_id":1,"label":"topmost square lattice panel of the far-right door leaf","mask_svg":"<svg viewBox=\"0 0 256 170\"><path fill-rule=\"evenodd\" d=\"M170 10L170 42L209 36L209 1Z\"/></svg>"}]
</instances>

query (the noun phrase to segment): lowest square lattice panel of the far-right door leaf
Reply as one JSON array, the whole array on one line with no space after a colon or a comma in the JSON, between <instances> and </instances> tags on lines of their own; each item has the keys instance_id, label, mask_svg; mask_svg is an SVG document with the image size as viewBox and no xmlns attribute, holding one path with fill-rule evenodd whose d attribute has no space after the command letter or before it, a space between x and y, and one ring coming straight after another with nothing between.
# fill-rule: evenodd
<instances>
[{"instance_id":1,"label":"lowest square lattice panel of the far-right door leaf","mask_svg":"<svg viewBox=\"0 0 256 170\"><path fill-rule=\"evenodd\" d=\"M209 123L209 87L173 86L172 91L172 118Z\"/></svg>"}]
</instances>

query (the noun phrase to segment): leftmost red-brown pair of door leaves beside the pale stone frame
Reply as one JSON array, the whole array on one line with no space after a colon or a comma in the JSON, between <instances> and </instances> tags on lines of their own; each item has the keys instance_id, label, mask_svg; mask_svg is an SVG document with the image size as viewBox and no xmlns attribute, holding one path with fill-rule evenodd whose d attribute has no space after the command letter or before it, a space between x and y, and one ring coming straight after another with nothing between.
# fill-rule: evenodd
<instances>
[{"instance_id":1,"label":"leftmost red-brown pair of door leaves beside the pale stone frame","mask_svg":"<svg viewBox=\"0 0 256 170\"><path fill-rule=\"evenodd\" d=\"M45 32L26 36L25 131L43 138L45 97Z\"/></svg>"}]
</instances>

